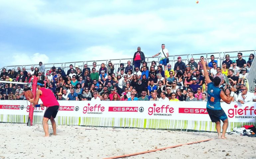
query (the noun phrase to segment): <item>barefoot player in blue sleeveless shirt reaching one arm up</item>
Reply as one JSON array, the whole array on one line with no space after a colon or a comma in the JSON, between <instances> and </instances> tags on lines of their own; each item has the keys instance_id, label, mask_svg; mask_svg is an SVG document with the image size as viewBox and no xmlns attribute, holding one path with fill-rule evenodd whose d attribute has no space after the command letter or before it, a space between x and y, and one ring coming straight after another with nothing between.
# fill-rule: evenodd
<instances>
[{"instance_id":1,"label":"barefoot player in blue sleeveless shirt reaching one arm up","mask_svg":"<svg viewBox=\"0 0 256 159\"><path fill-rule=\"evenodd\" d=\"M203 71L207 72L205 61L201 60L203 65ZM206 110L211 118L211 122L216 123L216 130L218 132L218 138L225 139L225 133L228 127L228 119L224 110L220 106L220 99L222 99L227 104L230 104L232 101L232 96L227 97L225 93L219 88L220 78L215 77L213 82L210 80L208 74L205 75L205 80L207 82L207 93L208 101L206 104ZM235 88L231 87L231 91L236 91ZM220 133L220 120L223 122L222 134Z\"/></svg>"}]
</instances>

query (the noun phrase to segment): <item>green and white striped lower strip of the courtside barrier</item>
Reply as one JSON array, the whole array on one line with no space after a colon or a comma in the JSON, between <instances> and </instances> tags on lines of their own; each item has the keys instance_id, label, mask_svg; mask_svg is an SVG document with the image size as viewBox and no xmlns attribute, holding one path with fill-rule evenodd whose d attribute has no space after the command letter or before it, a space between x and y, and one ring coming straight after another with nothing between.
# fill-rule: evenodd
<instances>
[{"instance_id":1,"label":"green and white striped lower strip of the courtside barrier","mask_svg":"<svg viewBox=\"0 0 256 159\"><path fill-rule=\"evenodd\" d=\"M0 122L27 123L28 115L2 115ZM41 124L43 116L34 116L33 123ZM63 117L57 116L58 125L80 125L100 127L131 127L145 129L187 129L216 132L215 123L209 121L166 120L166 119L139 119L139 118L95 118L95 117ZM50 124L49 120L49 124ZM229 122L227 132L232 132L235 127L255 125L250 122Z\"/></svg>"}]
</instances>

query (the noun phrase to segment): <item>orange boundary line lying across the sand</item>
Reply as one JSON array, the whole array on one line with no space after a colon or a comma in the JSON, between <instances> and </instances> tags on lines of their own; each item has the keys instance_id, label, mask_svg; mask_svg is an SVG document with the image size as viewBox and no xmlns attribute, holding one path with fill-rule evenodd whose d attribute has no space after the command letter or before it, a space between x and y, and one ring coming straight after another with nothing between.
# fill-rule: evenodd
<instances>
[{"instance_id":1,"label":"orange boundary line lying across the sand","mask_svg":"<svg viewBox=\"0 0 256 159\"><path fill-rule=\"evenodd\" d=\"M170 146L170 147L158 148L158 149L149 150L149 151L127 154L127 155L122 155L122 156L108 157L108 158L103 158L103 159L113 159L113 158L122 158L122 157L135 156L135 155L140 155L140 154L144 154L144 153L155 152L155 151L159 151L159 150L165 150L165 149L168 149L168 148L179 147L179 146L182 146L182 145L190 145L190 144L193 144L193 143L205 142L205 141L209 141L209 140L212 140L212 138L209 138L209 139L206 139L206 140L201 140L201 141L195 141L195 142L191 142L191 143L184 143L184 144Z\"/></svg>"}]
</instances>

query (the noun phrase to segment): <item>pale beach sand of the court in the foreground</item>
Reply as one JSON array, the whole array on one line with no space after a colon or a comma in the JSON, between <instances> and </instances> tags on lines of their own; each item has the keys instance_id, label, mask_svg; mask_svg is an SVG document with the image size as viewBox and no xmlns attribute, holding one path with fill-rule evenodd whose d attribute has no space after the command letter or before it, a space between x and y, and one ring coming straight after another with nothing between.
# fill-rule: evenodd
<instances>
[{"instance_id":1,"label":"pale beach sand of the court in the foreground","mask_svg":"<svg viewBox=\"0 0 256 159\"><path fill-rule=\"evenodd\" d=\"M41 124L0 123L0 159L107 158L212 138L210 141L126 157L169 158L256 158L255 139L236 134L216 139L213 132L103 128L57 125L56 136L44 136Z\"/></svg>"}]
</instances>

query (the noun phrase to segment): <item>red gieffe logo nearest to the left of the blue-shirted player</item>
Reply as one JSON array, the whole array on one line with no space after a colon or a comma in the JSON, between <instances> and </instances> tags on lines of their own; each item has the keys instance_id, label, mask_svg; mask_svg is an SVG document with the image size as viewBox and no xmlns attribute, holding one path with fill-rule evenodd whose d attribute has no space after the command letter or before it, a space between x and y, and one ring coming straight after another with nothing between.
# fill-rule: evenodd
<instances>
[{"instance_id":1,"label":"red gieffe logo nearest to the left of the blue-shirted player","mask_svg":"<svg viewBox=\"0 0 256 159\"><path fill-rule=\"evenodd\" d=\"M161 114L163 113L163 114ZM171 116L171 114L174 113L174 108L170 107L169 105L162 105L157 106L155 103L153 104L153 107L148 108L148 114L149 115L159 115L159 116Z\"/></svg>"}]
</instances>

